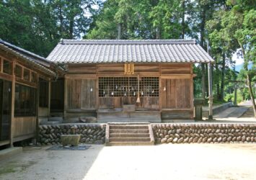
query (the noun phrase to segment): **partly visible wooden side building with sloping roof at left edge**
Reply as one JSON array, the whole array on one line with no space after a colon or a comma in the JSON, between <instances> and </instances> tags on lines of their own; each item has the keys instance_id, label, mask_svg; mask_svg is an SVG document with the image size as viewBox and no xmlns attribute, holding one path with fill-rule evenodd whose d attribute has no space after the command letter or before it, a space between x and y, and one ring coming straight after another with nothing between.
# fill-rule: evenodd
<instances>
[{"instance_id":1,"label":"partly visible wooden side building with sloping roof at left edge","mask_svg":"<svg viewBox=\"0 0 256 180\"><path fill-rule=\"evenodd\" d=\"M0 146L35 138L39 116L50 115L50 81L61 70L0 39Z\"/></svg>"}]
</instances>

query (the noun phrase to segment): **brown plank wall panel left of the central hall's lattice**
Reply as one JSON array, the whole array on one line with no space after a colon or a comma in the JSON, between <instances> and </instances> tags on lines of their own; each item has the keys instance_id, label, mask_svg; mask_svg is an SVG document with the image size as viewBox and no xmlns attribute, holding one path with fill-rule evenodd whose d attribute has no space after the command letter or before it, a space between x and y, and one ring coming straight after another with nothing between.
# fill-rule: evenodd
<instances>
[{"instance_id":1,"label":"brown plank wall panel left of the central hall's lattice","mask_svg":"<svg viewBox=\"0 0 256 180\"><path fill-rule=\"evenodd\" d=\"M67 108L95 109L96 91L96 79L69 78L67 80Z\"/></svg>"}]
</instances>

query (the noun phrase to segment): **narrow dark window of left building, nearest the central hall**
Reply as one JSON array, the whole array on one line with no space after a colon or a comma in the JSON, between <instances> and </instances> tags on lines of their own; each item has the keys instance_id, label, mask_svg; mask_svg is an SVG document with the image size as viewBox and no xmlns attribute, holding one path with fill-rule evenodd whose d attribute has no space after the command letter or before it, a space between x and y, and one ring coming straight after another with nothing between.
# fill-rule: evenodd
<instances>
[{"instance_id":1,"label":"narrow dark window of left building, nearest the central hall","mask_svg":"<svg viewBox=\"0 0 256 180\"><path fill-rule=\"evenodd\" d=\"M42 81L39 86L39 107L48 107L49 84Z\"/></svg>"}]
</instances>

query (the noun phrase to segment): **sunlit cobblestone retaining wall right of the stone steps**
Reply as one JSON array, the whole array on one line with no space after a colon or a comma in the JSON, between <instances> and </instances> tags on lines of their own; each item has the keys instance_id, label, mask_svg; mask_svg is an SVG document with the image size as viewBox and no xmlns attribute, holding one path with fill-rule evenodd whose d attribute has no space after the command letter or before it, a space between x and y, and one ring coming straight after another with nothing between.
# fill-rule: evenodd
<instances>
[{"instance_id":1,"label":"sunlit cobblestone retaining wall right of the stone steps","mask_svg":"<svg viewBox=\"0 0 256 180\"><path fill-rule=\"evenodd\" d=\"M256 124L154 124L156 143L256 143Z\"/></svg>"}]
</instances>

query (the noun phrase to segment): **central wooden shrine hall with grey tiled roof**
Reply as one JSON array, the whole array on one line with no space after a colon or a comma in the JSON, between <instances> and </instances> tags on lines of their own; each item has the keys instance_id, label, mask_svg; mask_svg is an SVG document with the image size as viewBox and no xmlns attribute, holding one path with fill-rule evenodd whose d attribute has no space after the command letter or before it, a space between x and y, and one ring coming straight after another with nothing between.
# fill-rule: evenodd
<instances>
[{"instance_id":1,"label":"central wooden shrine hall with grey tiled roof","mask_svg":"<svg viewBox=\"0 0 256 180\"><path fill-rule=\"evenodd\" d=\"M213 62L195 40L61 40L47 60L66 71L63 122L192 120L193 63Z\"/></svg>"}]
</instances>

